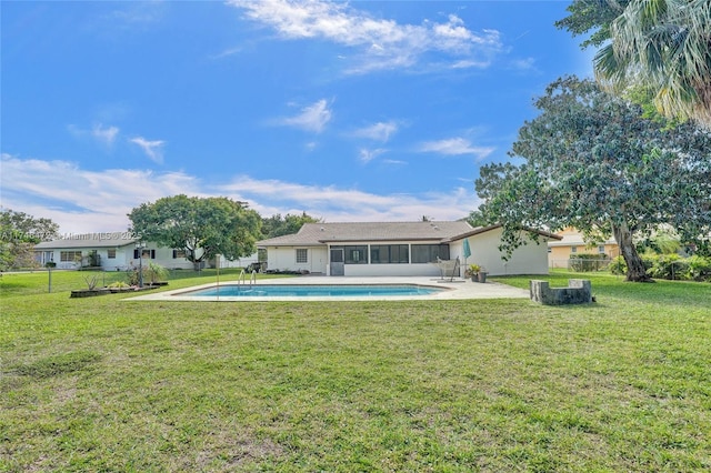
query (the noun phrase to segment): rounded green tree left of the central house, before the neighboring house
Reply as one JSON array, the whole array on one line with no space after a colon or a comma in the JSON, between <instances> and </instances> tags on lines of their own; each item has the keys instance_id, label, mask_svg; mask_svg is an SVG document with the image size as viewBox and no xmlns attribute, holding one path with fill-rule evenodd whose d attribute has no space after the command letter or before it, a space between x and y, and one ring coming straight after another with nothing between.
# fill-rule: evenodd
<instances>
[{"instance_id":1,"label":"rounded green tree left of the central house, before the neighboring house","mask_svg":"<svg viewBox=\"0 0 711 473\"><path fill-rule=\"evenodd\" d=\"M261 236L259 213L222 197L167 197L142 203L129 219L141 240L181 249L196 265L217 254L230 260L250 255Z\"/></svg>"}]
</instances>

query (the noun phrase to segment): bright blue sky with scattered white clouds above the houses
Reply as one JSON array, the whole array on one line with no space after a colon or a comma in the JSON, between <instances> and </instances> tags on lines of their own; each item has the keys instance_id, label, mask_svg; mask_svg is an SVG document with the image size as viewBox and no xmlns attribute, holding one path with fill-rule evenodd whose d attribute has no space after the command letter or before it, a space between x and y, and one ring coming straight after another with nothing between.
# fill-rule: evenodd
<instances>
[{"instance_id":1,"label":"bright blue sky with scattered white clouds above the houses","mask_svg":"<svg viewBox=\"0 0 711 473\"><path fill-rule=\"evenodd\" d=\"M161 197L454 220L593 51L567 1L3 1L2 207L118 231Z\"/></svg>"}]
</instances>

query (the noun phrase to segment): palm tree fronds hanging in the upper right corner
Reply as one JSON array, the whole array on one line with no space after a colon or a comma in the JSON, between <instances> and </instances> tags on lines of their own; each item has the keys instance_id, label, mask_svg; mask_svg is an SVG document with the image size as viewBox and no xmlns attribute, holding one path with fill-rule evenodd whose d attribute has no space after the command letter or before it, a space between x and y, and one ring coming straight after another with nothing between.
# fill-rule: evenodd
<instances>
[{"instance_id":1,"label":"palm tree fronds hanging in the upper right corner","mask_svg":"<svg viewBox=\"0 0 711 473\"><path fill-rule=\"evenodd\" d=\"M651 88L660 112L711 129L711 1L632 0L610 34L594 58L603 88Z\"/></svg>"}]
</instances>

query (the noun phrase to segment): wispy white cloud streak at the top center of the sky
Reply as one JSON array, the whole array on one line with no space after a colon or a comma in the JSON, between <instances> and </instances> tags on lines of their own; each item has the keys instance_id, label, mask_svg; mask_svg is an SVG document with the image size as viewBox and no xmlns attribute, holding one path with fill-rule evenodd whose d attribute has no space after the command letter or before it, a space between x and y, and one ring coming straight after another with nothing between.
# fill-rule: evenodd
<instances>
[{"instance_id":1,"label":"wispy white cloud streak at the top center of the sky","mask_svg":"<svg viewBox=\"0 0 711 473\"><path fill-rule=\"evenodd\" d=\"M490 58L502 50L498 31L474 32L454 14L443 23L399 24L372 18L341 2L230 0L228 3L242 9L247 18L273 28L284 39L321 39L353 49L356 63L348 70L351 73L412 68L427 62L432 52L451 57L459 67L487 67ZM463 62L467 58L470 60Z\"/></svg>"}]
</instances>

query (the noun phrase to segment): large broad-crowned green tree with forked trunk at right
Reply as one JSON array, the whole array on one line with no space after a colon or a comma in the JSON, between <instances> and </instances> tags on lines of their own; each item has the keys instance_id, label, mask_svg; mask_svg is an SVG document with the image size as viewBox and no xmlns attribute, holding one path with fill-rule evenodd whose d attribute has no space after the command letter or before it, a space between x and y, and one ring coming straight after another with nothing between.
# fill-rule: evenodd
<instances>
[{"instance_id":1,"label":"large broad-crowned green tree with forked trunk at right","mask_svg":"<svg viewBox=\"0 0 711 473\"><path fill-rule=\"evenodd\" d=\"M501 249L521 229L575 227L590 240L614 235L628 281L650 281L632 234L668 223L684 241L711 229L711 135L693 123L662 129L640 107L594 82L564 78L535 101L510 155L481 169L480 211L503 224ZM530 233L537 239L535 233Z\"/></svg>"}]
</instances>

